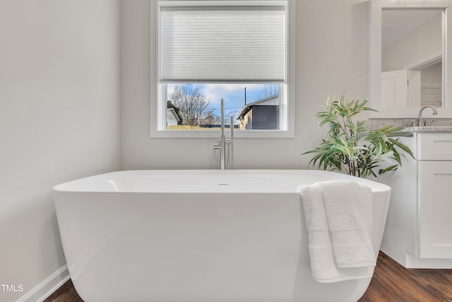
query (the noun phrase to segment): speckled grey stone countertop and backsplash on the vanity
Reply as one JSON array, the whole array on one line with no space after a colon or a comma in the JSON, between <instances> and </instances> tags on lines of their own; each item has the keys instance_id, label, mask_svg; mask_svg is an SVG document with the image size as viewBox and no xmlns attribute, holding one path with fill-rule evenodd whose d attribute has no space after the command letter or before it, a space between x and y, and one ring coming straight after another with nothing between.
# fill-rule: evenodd
<instances>
[{"instance_id":1,"label":"speckled grey stone countertop and backsplash on the vanity","mask_svg":"<svg viewBox=\"0 0 452 302\"><path fill-rule=\"evenodd\" d=\"M393 125L403 127L400 132L452 132L452 119L425 119L425 126L415 126L417 119L371 119L366 121L366 126L371 129Z\"/></svg>"}]
</instances>

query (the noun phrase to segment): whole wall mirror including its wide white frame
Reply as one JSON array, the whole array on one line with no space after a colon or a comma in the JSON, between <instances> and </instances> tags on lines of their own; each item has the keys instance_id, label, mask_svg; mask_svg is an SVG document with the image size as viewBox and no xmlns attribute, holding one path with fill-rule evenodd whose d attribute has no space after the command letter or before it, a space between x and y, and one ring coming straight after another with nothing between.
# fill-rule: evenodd
<instances>
[{"instance_id":1,"label":"whole wall mirror including its wide white frame","mask_svg":"<svg viewBox=\"0 0 452 302\"><path fill-rule=\"evenodd\" d=\"M416 117L424 105L452 117L449 7L451 0L371 0L369 99L379 110L371 117Z\"/></svg>"}]
</instances>

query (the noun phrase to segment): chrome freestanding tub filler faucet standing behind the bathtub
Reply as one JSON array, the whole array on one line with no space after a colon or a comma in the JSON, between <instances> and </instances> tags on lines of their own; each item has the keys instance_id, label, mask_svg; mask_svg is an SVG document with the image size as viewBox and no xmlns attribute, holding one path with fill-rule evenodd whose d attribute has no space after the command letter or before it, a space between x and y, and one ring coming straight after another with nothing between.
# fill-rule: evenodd
<instances>
[{"instance_id":1,"label":"chrome freestanding tub filler faucet standing behind the bathtub","mask_svg":"<svg viewBox=\"0 0 452 302\"><path fill-rule=\"evenodd\" d=\"M221 99L221 136L217 142L213 144L213 151L220 150L220 169L234 169L234 117L231 115L230 122L231 134L230 138L225 137L225 101Z\"/></svg>"}]
</instances>

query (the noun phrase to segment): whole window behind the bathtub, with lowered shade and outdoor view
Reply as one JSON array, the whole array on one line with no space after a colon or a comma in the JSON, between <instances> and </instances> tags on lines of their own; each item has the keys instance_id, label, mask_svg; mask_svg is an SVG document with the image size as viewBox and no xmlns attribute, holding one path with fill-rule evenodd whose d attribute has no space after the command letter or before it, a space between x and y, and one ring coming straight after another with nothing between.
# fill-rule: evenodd
<instances>
[{"instance_id":1,"label":"whole window behind the bathtub, with lowered shade and outdoor view","mask_svg":"<svg viewBox=\"0 0 452 302\"><path fill-rule=\"evenodd\" d=\"M215 137L224 99L237 137L290 136L287 2L158 1L154 133Z\"/></svg>"}]
</instances>

